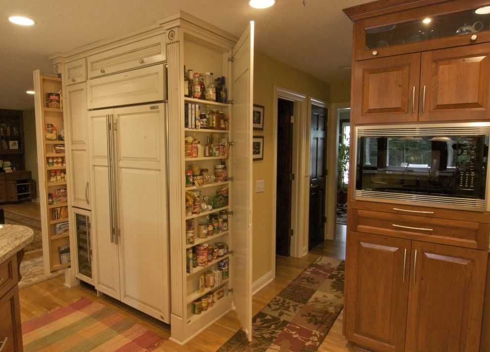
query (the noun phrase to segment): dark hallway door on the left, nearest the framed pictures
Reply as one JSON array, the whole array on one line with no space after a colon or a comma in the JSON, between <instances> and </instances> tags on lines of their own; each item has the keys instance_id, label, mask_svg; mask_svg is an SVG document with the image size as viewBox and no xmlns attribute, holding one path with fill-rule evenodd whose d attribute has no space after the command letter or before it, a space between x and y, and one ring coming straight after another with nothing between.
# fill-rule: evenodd
<instances>
[{"instance_id":1,"label":"dark hallway door on the left, nearest the framed pictures","mask_svg":"<svg viewBox=\"0 0 490 352\"><path fill-rule=\"evenodd\" d=\"M276 254L289 256L291 247L291 182L294 103L277 101Z\"/></svg>"}]
</instances>

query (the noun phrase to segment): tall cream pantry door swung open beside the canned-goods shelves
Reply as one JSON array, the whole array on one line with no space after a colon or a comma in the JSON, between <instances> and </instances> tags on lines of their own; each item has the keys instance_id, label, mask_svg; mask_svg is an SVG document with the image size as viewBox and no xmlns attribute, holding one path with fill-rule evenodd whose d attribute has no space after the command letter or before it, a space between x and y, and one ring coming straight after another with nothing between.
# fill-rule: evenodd
<instances>
[{"instance_id":1,"label":"tall cream pantry door swung open beside the canned-goods shelves","mask_svg":"<svg viewBox=\"0 0 490 352\"><path fill-rule=\"evenodd\" d=\"M253 25L233 48L233 298L248 341L252 334Z\"/></svg>"}]
</instances>

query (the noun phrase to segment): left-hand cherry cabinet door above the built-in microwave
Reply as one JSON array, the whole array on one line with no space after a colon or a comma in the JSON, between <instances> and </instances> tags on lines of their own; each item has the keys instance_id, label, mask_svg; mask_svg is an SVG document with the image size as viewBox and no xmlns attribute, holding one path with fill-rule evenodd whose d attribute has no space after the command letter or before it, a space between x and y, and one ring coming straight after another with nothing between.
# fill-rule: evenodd
<instances>
[{"instance_id":1,"label":"left-hand cherry cabinet door above the built-in microwave","mask_svg":"<svg viewBox=\"0 0 490 352\"><path fill-rule=\"evenodd\" d=\"M420 54L356 62L355 123L417 121Z\"/></svg>"}]
</instances>

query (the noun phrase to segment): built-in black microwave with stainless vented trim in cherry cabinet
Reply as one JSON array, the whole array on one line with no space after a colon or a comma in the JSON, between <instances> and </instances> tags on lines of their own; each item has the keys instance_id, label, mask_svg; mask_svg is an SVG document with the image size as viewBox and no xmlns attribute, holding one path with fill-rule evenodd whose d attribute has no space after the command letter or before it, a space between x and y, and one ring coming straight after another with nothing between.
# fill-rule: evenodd
<instances>
[{"instance_id":1,"label":"built-in black microwave with stainless vented trim in cherry cabinet","mask_svg":"<svg viewBox=\"0 0 490 352\"><path fill-rule=\"evenodd\" d=\"M489 211L490 122L354 129L354 198Z\"/></svg>"}]
</instances>

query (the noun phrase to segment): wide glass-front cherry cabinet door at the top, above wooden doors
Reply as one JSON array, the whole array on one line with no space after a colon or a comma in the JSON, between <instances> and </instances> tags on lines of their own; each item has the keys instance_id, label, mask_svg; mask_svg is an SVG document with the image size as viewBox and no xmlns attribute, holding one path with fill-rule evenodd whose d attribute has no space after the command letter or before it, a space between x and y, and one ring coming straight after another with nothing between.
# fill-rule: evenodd
<instances>
[{"instance_id":1,"label":"wide glass-front cherry cabinet door at the top, above wooden doors","mask_svg":"<svg viewBox=\"0 0 490 352\"><path fill-rule=\"evenodd\" d=\"M360 20L356 59L427 51L490 41L490 1L443 2Z\"/></svg>"}]
</instances>

